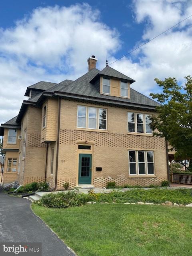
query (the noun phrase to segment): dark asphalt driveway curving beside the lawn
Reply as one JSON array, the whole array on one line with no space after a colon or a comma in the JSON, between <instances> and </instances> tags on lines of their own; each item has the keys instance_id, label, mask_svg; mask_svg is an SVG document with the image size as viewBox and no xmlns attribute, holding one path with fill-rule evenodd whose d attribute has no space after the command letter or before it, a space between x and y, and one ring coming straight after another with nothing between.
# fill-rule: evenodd
<instances>
[{"instance_id":1,"label":"dark asphalt driveway curving beside the lawn","mask_svg":"<svg viewBox=\"0 0 192 256\"><path fill-rule=\"evenodd\" d=\"M0 242L42 242L42 256L74 256L32 212L30 204L0 190Z\"/></svg>"}]
</instances>

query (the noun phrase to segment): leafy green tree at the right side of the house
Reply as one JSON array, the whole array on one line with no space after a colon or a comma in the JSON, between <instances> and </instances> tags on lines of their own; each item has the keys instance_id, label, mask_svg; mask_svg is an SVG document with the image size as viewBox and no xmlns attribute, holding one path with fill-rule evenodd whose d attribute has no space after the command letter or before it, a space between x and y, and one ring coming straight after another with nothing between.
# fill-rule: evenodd
<instances>
[{"instance_id":1,"label":"leafy green tree at the right side of the house","mask_svg":"<svg viewBox=\"0 0 192 256\"><path fill-rule=\"evenodd\" d=\"M176 150L175 158L183 160L192 159L192 77L185 78L184 86L176 78L155 78L162 93L150 94L162 104L151 118L154 136L164 137Z\"/></svg>"}]
</instances>

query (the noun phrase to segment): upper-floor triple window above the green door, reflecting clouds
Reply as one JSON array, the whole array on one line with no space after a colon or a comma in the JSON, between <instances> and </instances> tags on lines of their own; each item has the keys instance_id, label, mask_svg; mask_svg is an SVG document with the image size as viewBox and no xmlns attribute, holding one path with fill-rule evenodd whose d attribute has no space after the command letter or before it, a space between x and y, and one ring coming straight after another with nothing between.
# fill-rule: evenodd
<instances>
[{"instance_id":1,"label":"upper-floor triple window above the green door, reflecting clouds","mask_svg":"<svg viewBox=\"0 0 192 256\"><path fill-rule=\"evenodd\" d=\"M78 106L77 127L94 130L106 130L107 110L105 108Z\"/></svg>"}]
</instances>

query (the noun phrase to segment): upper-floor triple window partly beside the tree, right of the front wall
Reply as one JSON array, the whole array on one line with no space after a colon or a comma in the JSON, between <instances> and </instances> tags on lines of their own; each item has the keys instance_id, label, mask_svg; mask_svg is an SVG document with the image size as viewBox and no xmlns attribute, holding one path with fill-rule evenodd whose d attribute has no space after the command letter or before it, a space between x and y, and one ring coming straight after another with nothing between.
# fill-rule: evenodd
<instances>
[{"instance_id":1,"label":"upper-floor triple window partly beside the tree, right of the front wall","mask_svg":"<svg viewBox=\"0 0 192 256\"><path fill-rule=\"evenodd\" d=\"M150 115L128 112L128 132L152 134Z\"/></svg>"}]
</instances>

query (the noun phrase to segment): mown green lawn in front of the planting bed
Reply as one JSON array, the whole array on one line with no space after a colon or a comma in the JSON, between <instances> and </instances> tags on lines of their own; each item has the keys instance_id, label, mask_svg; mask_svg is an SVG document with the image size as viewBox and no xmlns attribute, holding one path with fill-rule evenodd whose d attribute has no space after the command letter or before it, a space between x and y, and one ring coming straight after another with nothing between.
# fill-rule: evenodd
<instances>
[{"instance_id":1,"label":"mown green lawn in front of the planting bed","mask_svg":"<svg viewBox=\"0 0 192 256\"><path fill-rule=\"evenodd\" d=\"M191 256L192 209L91 204L53 209L32 204L78 256Z\"/></svg>"}]
</instances>

